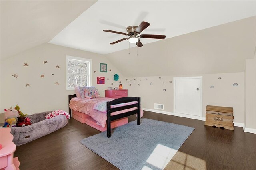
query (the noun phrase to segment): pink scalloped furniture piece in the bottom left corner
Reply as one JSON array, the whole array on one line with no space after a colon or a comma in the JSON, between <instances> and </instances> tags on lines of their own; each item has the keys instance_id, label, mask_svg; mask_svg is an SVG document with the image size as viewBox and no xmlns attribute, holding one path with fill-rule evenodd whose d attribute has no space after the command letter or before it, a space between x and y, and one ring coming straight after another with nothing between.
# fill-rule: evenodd
<instances>
[{"instance_id":1,"label":"pink scalloped furniture piece in the bottom left corner","mask_svg":"<svg viewBox=\"0 0 256 170\"><path fill-rule=\"evenodd\" d=\"M19 170L20 166L18 157L13 158L13 152L16 150L16 145L12 142L13 136L10 132L10 128L0 129L0 144L2 144L2 149L0 149L1 170Z\"/></svg>"}]
</instances>

